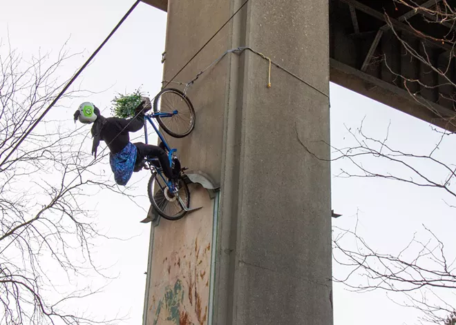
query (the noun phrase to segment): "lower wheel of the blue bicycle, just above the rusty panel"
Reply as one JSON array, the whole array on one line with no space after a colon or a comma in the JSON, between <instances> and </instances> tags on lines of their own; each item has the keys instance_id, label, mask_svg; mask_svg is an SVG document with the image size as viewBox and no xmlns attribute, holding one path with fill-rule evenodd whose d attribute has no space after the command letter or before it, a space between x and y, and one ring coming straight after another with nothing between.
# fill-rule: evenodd
<instances>
[{"instance_id":1,"label":"lower wheel of the blue bicycle, just above the rusty panel","mask_svg":"<svg viewBox=\"0 0 456 325\"><path fill-rule=\"evenodd\" d=\"M178 180L178 195L170 193L162 175L153 173L147 184L147 194L155 211L164 219L178 220L187 213L180 205L179 198L186 208L190 206L190 192L183 179Z\"/></svg>"}]
</instances>

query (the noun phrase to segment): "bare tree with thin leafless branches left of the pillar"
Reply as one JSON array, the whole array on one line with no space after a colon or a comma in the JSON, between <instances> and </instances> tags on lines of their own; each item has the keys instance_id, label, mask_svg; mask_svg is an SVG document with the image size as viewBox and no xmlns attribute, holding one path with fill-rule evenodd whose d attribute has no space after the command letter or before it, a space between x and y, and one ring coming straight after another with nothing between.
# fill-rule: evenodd
<instances>
[{"instance_id":1,"label":"bare tree with thin leafless branches left of the pillar","mask_svg":"<svg viewBox=\"0 0 456 325\"><path fill-rule=\"evenodd\" d=\"M62 48L24 59L0 44L0 157L17 144L66 80L59 68L73 55ZM63 100L82 95L73 88ZM114 324L72 305L110 280L93 260L93 242L104 237L84 200L102 190L125 195L97 174L82 149L87 130L68 130L45 119L0 168L0 323ZM84 280L99 278L99 288Z\"/></svg>"}]
</instances>

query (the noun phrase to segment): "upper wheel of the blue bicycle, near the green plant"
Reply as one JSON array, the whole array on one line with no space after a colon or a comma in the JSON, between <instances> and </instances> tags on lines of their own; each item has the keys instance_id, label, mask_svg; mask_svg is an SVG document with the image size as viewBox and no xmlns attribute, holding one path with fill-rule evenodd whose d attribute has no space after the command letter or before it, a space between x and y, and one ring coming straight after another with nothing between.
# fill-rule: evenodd
<instances>
[{"instance_id":1,"label":"upper wheel of the blue bicycle, near the green plant","mask_svg":"<svg viewBox=\"0 0 456 325\"><path fill-rule=\"evenodd\" d=\"M177 114L172 117L157 117L158 124L171 137L187 137L195 127L195 110L190 99L180 90L164 88L153 100L153 112Z\"/></svg>"}]
</instances>

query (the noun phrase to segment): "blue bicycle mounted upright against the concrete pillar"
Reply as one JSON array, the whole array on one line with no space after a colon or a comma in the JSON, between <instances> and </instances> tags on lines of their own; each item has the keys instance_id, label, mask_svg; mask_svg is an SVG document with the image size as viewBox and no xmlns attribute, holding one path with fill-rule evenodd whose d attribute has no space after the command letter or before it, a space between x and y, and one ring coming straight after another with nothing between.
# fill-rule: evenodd
<instances>
[{"instance_id":1,"label":"blue bicycle mounted upright against the concrete pillar","mask_svg":"<svg viewBox=\"0 0 456 325\"><path fill-rule=\"evenodd\" d=\"M171 168L180 173L178 179L169 181L163 174L160 161L157 158L146 157L142 167L151 170L152 173L147 185L147 194L159 215L165 219L178 220L189 211L196 210L189 208L190 192L184 175L186 168L181 168L179 160L175 157L177 150L168 145L153 119L156 119L162 130L171 137L182 138L189 135L195 127L195 110L183 92L174 88L164 88L153 101L153 113L144 117L146 144L149 143L147 133L147 121L149 121L160 138L159 146L168 153Z\"/></svg>"}]
</instances>

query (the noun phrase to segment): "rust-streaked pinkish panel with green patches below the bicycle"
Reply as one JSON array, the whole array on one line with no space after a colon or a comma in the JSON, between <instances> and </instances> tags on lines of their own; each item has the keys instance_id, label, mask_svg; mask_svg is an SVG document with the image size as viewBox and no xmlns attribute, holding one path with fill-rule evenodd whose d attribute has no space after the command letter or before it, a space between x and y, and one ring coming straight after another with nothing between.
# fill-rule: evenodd
<instances>
[{"instance_id":1,"label":"rust-streaked pinkish panel with green patches below the bicycle","mask_svg":"<svg viewBox=\"0 0 456 325\"><path fill-rule=\"evenodd\" d=\"M213 202L204 188L192 199L198 214L154 229L147 325L207 325Z\"/></svg>"}]
</instances>

